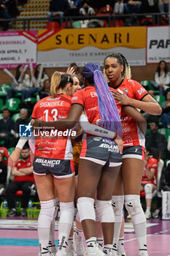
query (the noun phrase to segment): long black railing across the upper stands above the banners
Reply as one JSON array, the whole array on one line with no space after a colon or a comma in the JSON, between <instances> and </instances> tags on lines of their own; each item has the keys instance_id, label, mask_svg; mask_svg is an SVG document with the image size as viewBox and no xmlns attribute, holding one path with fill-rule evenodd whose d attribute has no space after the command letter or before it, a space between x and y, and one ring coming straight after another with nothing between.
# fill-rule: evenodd
<instances>
[{"instance_id":1,"label":"long black railing across the upper stands above the banners","mask_svg":"<svg viewBox=\"0 0 170 256\"><path fill-rule=\"evenodd\" d=\"M161 18L165 18L165 21L167 21L167 25L169 25L169 19L170 19L170 12L169 13L140 13L140 14L125 14L125 15L94 15L94 16L70 16L70 17L63 17L63 18L15 18L15 19L1 19L0 23L7 21L8 23L16 23L16 22L22 22L23 23L23 30L29 30L30 29L30 23L31 21L58 21L58 23L61 23L61 20L66 23L65 28L72 28L72 22L75 20L106 20L107 21L107 26L113 26L115 27L116 25L116 20L123 20L124 26L128 26L128 23L126 23L125 20L131 19L131 20L137 20L138 22L134 22L131 24L131 26L142 26L142 19L144 18L152 18L152 24L150 25L166 25L161 24ZM130 25L129 25L130 26Z\"/></svg>"}]
</instances>

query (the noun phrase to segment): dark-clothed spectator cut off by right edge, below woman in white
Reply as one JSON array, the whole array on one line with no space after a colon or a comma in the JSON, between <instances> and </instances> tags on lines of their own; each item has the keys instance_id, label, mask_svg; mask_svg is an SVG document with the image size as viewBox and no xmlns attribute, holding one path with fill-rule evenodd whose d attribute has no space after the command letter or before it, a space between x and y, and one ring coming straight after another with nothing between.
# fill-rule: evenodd
<instances>
[{"instance_id":1,"label":"dark-clothed spectator cut off by right edge, below woman in white","mask_svg":"<svg viewBox=\"0 0 170 256\"><path fill-rule=\"evenodd\" d=\"M170 129L170 91L166 94L166 101L163 102L163 115L161 116L163 128Z\"/></svg>"}]
</instances>

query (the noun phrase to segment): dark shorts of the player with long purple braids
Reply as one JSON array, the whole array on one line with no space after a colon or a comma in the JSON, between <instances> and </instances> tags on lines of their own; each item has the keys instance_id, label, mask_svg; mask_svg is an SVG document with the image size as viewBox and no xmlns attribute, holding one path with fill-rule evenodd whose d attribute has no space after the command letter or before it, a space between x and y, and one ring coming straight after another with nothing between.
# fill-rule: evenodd
<instances>
[{"instance_id":1,"label":"dark shorts of the player with long purple braids","mask_svg":"<svg viewBox=\"0 0 170 256\"><path fill-rule=\"evenodd\" d=\"M122 164L122 155L114 140L107 140L101 137L88 137L82 142L81 159L96 162L99 165L109 167Z\"/></svg>"}]
</instances>

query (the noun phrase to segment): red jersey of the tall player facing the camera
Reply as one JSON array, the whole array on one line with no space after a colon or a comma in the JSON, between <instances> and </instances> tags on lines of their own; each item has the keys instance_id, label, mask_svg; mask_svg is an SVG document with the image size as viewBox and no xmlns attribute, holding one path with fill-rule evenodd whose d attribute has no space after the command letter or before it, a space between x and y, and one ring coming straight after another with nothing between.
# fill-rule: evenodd
<instances>
[{"instance_id":1,"label":"red jersey of the tall player facing the camera","mask_svg":"<svg viewBox=\"0 0 170 256\"><path fill-rule=\"evenodd\" d=\"M131 79L124 79L120 86L115 90L120 89L131 99L142 100L148 93L144 87ZM145 138L142 131L139 129L136 121L122 112L122 127L123 127L123 147L129 146L145 146Z\"/></svg>"}]
</instances>

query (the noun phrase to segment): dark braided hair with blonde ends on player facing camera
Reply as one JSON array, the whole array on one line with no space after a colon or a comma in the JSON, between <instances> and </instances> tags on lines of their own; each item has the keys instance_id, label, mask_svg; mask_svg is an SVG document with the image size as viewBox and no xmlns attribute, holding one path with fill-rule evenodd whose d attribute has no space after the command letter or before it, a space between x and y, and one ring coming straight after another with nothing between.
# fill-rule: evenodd
<instances>
[{"instance_id":1,"label":"dark braided hair with blonde ends on player facing camera","mask_svg":"<svg viewBox=\"0 0 170 256\"><path fill-rule=\"evenodd\" d=\"M109 59L109 58L115 58L117 59L117 62L120 65L123 65L122 77L124 79L131 79L131 67L129 66L127 59L125 59L125 56L123 56L122 53L110 53L104 59L104 62L106 61L106 59Z\"/></svg>"}]
</instances>

